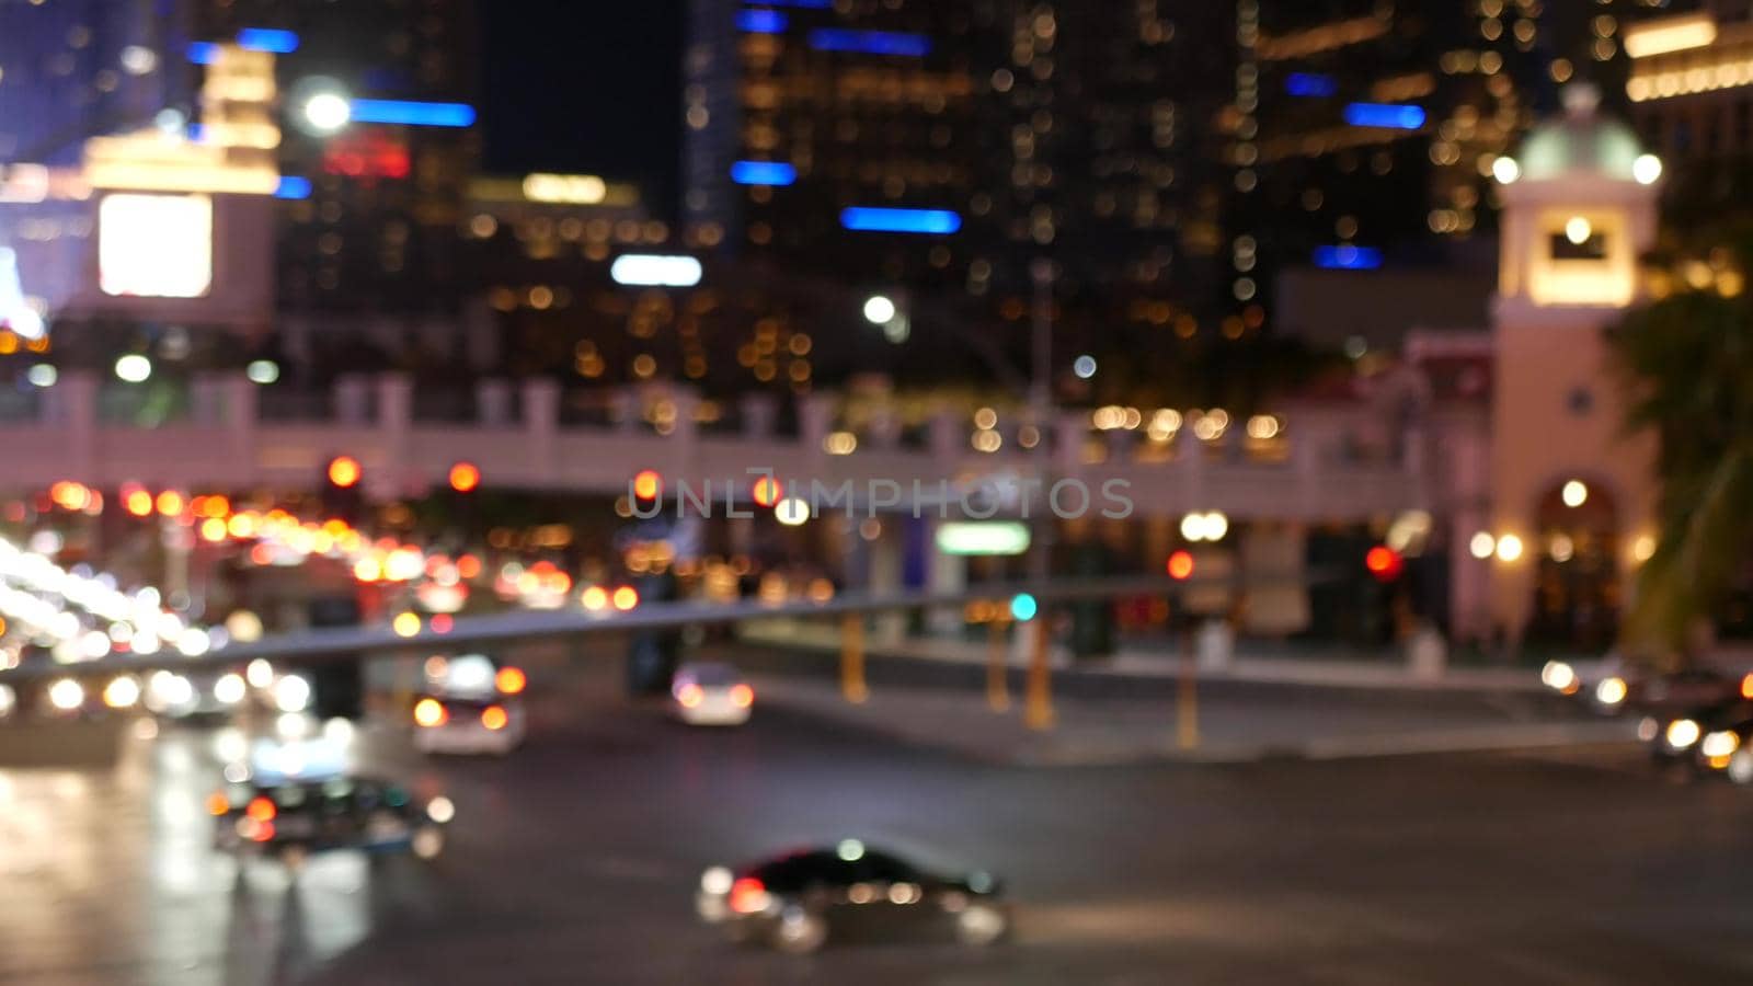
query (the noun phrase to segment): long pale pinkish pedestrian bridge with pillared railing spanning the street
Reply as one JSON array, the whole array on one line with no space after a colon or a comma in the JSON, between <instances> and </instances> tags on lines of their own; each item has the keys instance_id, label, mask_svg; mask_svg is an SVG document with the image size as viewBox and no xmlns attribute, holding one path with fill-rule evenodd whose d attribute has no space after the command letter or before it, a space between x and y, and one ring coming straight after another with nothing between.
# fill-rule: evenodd
<instances>
[{"instance_id":1,"label":"long pale pinkish pedestrian bridge with pillared railing spanning the street","mask_svg":"<svg viewBox=\"0 0 1753 986\"><path fill-rule=\"evenodd\" d=\"M782 421L771 395L726 411L675 388L601 388L593 416L575 412L547 379L482 381L435 411L422 389L403 374L347 377L317 395L207 375L188 384L177 414L142 426L138 414L117 412L117 398L138 404L121 384L68 370L0 425L5 486L312 488L345 454L363 465L375 498L442 488L451 467L468 461L484 486L596 495L626 491L647 468L694 489L752 484L749 470L770 468L826 488L892 482L901 509L915 482L938 489L982 477L1078 479L1090 491L1124 481L1141 516L1215 509L1232 519L1345 523L1430 509L1422 442L1383 437L1367 409L1292 407L1271 435L1252 421L1194 435L1152 428L1138 412L1101 421L1090 411L1061 411L1041 428L982 428L955 412L912 428L868 414L848 426L834 395L805 395Z\"/></svg>"}]
</instances>

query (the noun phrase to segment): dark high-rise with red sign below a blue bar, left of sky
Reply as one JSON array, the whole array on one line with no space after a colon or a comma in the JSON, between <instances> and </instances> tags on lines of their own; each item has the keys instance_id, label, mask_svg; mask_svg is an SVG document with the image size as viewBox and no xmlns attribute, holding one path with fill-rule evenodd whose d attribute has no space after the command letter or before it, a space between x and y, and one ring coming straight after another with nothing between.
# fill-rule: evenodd
<instances>
[{"instance_id":1,"label":"dark high-rise with red sign below a blue bar, left of sky","mask_svg":"<svg viewBox=\"0 0 1753 986\"><path fill-rule=\"evenodd\" d=\"M452 311L479 160L473 4L195 0L191 19L196 39L249 32L277 54L280 170L291 195L309 188L280 209L282 309ZM200 46L191 56L200 61ZM303 102L328 89L354 100L352 119L302 126Z\"/></svg>"}]
</instances>

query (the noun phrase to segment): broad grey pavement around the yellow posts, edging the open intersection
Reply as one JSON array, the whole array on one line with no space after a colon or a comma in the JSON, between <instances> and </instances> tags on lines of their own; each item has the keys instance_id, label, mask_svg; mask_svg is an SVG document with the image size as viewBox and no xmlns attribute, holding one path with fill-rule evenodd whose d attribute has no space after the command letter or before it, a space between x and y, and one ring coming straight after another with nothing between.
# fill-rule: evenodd
<instances>
[{"instance_id":1,"label":"broad grey pavement around the yellow posts, edging the open intersection","mask_svg":"<svg viewBox=\"0 0 1753 986\"><path fill-rule=\"evenodd\" d=\"M1006 654L1008 707L985 691L985 646L947 639L868 642L869 695L841 697L833 626L750 626L740 654L761 709L829 719L912 746L990 763L1069 767L1139 761L1238 763L1629 744L1629 719L1557 700L1523 668L1451 668L1241 656L1197 672L1197 742L1182 746L1178 654L1122 651L1071 667L1055 654L1054 728L1024 725L1024 663ZM789 654L789 656L787 656Z\"/></svg>"}]
</instances>

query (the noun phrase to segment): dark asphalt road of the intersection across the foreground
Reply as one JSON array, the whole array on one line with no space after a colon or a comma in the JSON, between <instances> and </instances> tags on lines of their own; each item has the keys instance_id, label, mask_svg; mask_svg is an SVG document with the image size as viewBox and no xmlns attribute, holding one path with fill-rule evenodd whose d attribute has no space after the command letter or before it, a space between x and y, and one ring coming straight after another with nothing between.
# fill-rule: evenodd
<instances>
[{"instance_id":1,"label":"dark asphalt road of the intersection across the foreground","mask_svg":"<svg viewBox=\"0 0 1753 986\"><path fill-rule=\"evenodd\" d=\"M780 709L696 732L600 682L531 742L361 758L458 804L449 853L296 881L207 847L210 735L114 772L0 770L0 981L1734 982L1753 791L1634 751L1001 767ZM692 916L703 867L855 835L997 872L990 949L864 935L812 958Z\"/></svg>"}]
</instances>

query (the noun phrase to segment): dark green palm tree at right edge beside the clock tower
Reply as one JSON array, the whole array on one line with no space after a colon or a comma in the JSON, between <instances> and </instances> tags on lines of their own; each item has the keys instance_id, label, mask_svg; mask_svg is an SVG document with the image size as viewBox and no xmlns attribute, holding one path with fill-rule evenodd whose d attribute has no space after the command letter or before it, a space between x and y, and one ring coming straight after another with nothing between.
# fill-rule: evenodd
<instances>
[{"instance_id":1,"label":"dark green palm tree at right edge beside the clock tower","mask_svg":"<svg viewBox=\"0 0 1753 986\"><path fill-rule=\"evenodd\" d=\"M1609 332L1630 393L1629 430L1660 439L1655 554L1637 574L1623 644L1664 663L1685 658L1753 547L1753 305L1742 289L1753 237L1713 237L1678 254L1678 289ZM1695 258L1700 254L1693 254Z\"/></svg>"}]
</instances>

